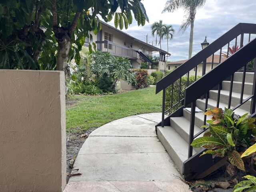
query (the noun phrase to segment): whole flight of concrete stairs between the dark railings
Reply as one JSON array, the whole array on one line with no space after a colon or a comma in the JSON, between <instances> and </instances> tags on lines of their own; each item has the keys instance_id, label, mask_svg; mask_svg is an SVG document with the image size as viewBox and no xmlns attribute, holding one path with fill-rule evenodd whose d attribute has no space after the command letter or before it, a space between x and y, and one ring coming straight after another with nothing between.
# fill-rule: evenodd
<instances>
[{"instance_id":1,"label":"whole flight of concrete stairs between the dark railings","mask_svg":"<svg viewBox=\"0 0 256 192\"><path fill-rule=\"evenodd\" d=\"M246 99L250 94L252 94L252 82L253 82L254 73L246 73L245 79L245 87L244 87L244 96L243 99ZM231 108L239 104L240 101L240 92L242 86L242 72L236 72L234 74L234 82L232 89L232 100L231 100ZM219 108L228 107L228 97L230 90L230 81L222 82L222 90L220 91L220 104ZM214 108L217 103L217 94L218 90L210 90L209 99L208 99L208 107ZM196 106L204 111L206 100L198 99L196 101ZM238 115L243 115L248 113L247 110L250 109L250 100L242 105L240 108L234 110L234 112ZM210 119L207 116L207 120ZM198 112L195 114L195 127L194 127L194 135L200 132L202 129L200 128L204 123L204 114L203 112ZM178 167L179 171L182 173L183 163L188 159L188 140L189 140L189 132L190 132L190 112L183 109L183 116L180 117L171 117L170 118L170 126L158 126L157 134L159 140L164 145L166 151ZM200 135L202 136L202 134ZM200 137L199 136L199 137ZM200 148L193 149L193 155L199 152ZM202 175L206 176L213 172L219 166L216 166L214 169L208 170L208 173L204 173Z\"/></svg>"}]
</instances>

